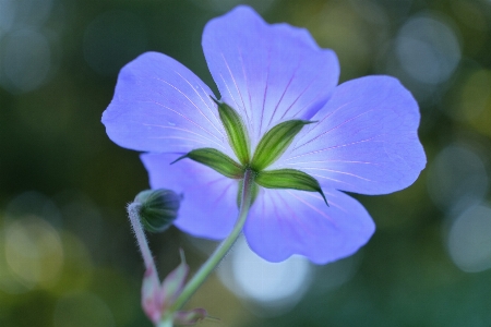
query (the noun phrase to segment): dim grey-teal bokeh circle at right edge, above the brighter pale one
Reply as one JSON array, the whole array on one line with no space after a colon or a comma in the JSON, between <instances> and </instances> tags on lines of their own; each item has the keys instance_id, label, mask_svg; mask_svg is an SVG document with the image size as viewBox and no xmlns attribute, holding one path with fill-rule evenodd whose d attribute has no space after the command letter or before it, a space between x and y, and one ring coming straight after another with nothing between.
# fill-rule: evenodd
<instances>
[{"instance_id":1,"label":"dim grey-teal bokeh circle at right edge, above the brighter pale one","mask_svg":"<svg viewBox=\"0 0 491 327\"><path fill-rule=\"evenodd\" d=\"M442 209L463 210L480 203L488 191L484 164L472 150L451 145L430 166L428 190Z\"/></svg>"}]
</instances>

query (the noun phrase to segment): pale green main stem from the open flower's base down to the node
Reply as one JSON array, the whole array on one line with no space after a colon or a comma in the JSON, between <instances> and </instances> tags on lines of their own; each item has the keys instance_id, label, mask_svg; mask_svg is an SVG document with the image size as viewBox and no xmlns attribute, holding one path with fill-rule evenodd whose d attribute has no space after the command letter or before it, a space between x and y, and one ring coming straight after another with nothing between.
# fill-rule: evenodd
<instances>
[{"instance_id":1,"label":"pale green main stem from the open flower's base down to the node","mask_svg":"<svg viewBox=\"0 0 491 327\"><path fill-rule=\"evenodd\" d=\"M254 182L254 172L250 169L246 170L242 185L242 201L240 203L239 217L231 233L225 239L221 244L215 250L206 263L197 270L193 278L185 284L182 293L172 305L173 311L180 310L191 295L200 288L206 278L213 272L216 266L225 257L227 252L232 247L242 232L243 225L249 214L252 202L252 186Z\"/></svg>"}]
</instances>

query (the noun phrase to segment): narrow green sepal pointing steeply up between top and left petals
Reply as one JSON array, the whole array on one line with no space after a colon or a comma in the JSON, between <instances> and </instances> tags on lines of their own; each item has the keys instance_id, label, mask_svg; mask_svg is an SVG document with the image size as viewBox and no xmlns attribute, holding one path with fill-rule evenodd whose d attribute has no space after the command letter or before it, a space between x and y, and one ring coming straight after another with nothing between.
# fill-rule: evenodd
<instances>
[{"instance_id":1,"label":"narrow green sepal pointing steeply up between top and left petals","mask_svg":"<svg viewBox=\"0 0 491 327\"><path fill-rule=\"evenodd\" d=\"M213 97L212 100L218 106L218 113L233 153L242 165L248 164L250 159L250 145L248 131L242 119L236 110L227 104L220 102Z\"/></svg>"}]
</instances>

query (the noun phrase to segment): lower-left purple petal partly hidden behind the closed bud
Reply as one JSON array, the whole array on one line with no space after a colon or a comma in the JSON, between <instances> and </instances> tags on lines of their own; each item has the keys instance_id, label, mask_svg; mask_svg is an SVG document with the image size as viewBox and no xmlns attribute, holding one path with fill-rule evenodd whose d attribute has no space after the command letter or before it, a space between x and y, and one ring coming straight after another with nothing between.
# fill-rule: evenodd
<instances>
[{"instance_id":1,"label":"lower-left purple petal partly hidden behind the closed bud","mask_svg":"<svg viewBox=\"0 0 491 327\"><path fill-rule=\"evenodd\" d=\"M238 182L189 159L170 165L172 154L143 154L152 189L170 189L183 195L175 225L195 237L223 239L233 228Z\"/></svg>"}]
</instances>

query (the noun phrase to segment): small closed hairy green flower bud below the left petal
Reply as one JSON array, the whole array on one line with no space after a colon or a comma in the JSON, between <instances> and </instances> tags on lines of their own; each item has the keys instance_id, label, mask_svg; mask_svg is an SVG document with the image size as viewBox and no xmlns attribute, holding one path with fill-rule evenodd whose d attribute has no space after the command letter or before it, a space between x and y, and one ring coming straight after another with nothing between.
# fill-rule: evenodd
<instances>
[{"instance_id":1,"label":"small closed hairy green flower bud below the left petal","mask_svg":"<svg viewBox=\"0 0 491 327\"><path fill-rule=\"evenodd\" d=\"M149 232L161 232L168 229L178 216L182 195L173 191L158 189L140 192L134 198L141 204L140 220Z\"/></svg>"}]
</instances>

